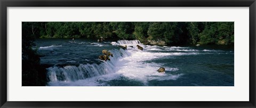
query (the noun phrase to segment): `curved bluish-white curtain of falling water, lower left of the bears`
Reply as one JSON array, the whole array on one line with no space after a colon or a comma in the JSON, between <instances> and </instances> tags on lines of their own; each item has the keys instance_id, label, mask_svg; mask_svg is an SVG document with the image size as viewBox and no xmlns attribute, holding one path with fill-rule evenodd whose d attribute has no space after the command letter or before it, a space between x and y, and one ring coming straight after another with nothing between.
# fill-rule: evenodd
<instances>
[{"instance_id":1,"label":"curved bluish-white curtain of falling water, lower left of the bears","mask_svg":"<svg viewBox=\"0 0 256 108\"><path fill-rule=\"evenodd\" d=\"M109 51L114 56L110 57L110 61L104 61L101 64L80 64L78 67L68 65L66 67L50 67L47 68L47 78L49 81L76 81L90 77L100 76L103 74L113 73L116 71L116 62L121 57L130 54L124 49L112 49Z\"/></svg>"}]
</instances>

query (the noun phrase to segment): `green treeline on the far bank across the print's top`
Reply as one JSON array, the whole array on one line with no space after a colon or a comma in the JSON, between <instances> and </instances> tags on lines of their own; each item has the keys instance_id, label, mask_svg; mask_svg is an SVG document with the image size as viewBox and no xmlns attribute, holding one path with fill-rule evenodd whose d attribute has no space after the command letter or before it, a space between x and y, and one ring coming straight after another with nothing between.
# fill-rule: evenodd
<instances>
[{"instance_id":1,"label":"green treeline on the far bank across the print's top","mask_svg":"<svg viewBox=\"0 0 256 108\"><path fill-rule=\"evenodd\" d=\"M23 22L36 38L116 38L167 45L234 44L234 22Z\"/></svg>"}]
</instances>

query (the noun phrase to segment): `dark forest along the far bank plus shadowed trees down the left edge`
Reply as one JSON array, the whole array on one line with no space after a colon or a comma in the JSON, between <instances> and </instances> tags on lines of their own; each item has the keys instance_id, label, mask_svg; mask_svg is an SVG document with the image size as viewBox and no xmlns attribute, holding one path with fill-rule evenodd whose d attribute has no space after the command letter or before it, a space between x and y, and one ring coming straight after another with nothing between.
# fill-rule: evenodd
<instances>
[{"instance_id":1,"label":"dark forest along the far bank plus shadowed trees down the left edge","mask_svg":"<svg viewBox=\"0 0 256 108\"><path fill-rule=\"evenodd\" d=\"M234 45L234 22L22 22L22 86L45 86L38 38L138 39L154 45Z\"/></svg>"}]
</instances>

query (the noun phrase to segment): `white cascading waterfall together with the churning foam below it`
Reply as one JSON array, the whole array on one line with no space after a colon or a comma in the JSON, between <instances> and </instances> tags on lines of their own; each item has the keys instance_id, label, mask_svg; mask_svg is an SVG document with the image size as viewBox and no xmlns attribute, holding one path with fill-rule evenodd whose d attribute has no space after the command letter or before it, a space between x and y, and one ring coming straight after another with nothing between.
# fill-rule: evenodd
<instances>
[{"instance_id":1,"label":"white cascading waterfall together with the churning foam below it","mask_svg":"<svg viewBox=\"0 0 256 108\"><path fill-rule=\"evenodd\" d=\"M91 82L94 82L95 80L98 81L102 79L102 76L115 73L115 75L111 74L111 77L107 77L105 81L113 79L113 76L123 76L125 78L139 80L143 83L143 85L147 85L148 80L163 80L161 77L166 76L166 74L161 74L156 71L159 67L161 67L161 65L155 63L145 64L144 61L157 59L158 57L169 56L172 55L171 53L150 53L147 51L140 51L136 45L140 45L143 48L154 48L156 46L151 47L143 45L139 40L118 40L117 43L114 43L114 45L127 45L129 47L127 47L127 51L122 48L109 50L109 52L113 54L113 57L109 56L110 61L103 61L100 64L87 63L79 64L78 66L67 65L65 67L47 68L47 78L49 79L50 84L54 86L61 85L59 83L63 82L74 82L74 85L77 85L76 82L79 80L90 80ZM166 71L168 70L177 71L179 69L166 68ZM177 74L177 76L169 75L164 79L175 80L180 75L181 74ZM91 78L96 79L91 80ZM57 84L54 84L55 82L57 82ZM89 86L98 85L98 82L95 83L96 84L89 84Z\"/></svg>"}]
</instances>

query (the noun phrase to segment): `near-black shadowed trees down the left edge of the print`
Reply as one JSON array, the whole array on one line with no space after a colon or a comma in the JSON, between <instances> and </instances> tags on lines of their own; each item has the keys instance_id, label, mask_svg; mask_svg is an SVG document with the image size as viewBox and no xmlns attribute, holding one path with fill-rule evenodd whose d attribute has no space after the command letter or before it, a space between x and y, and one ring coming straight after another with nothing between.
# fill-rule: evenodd
<instances>
[{"instance_id":1,"label":"near-black shadowed trees down the left edge of the print","mask_svg":"<svg viewBox=\"0 0 256 108\"><path fill-rule=\"evenodd\" d=\"M22 86L45 86L46 70L40 64L40 56L32 47L36 37L36 27L22 22ZM34 30L34 31L32 31Z\"/></svg>"}]
</instances>

